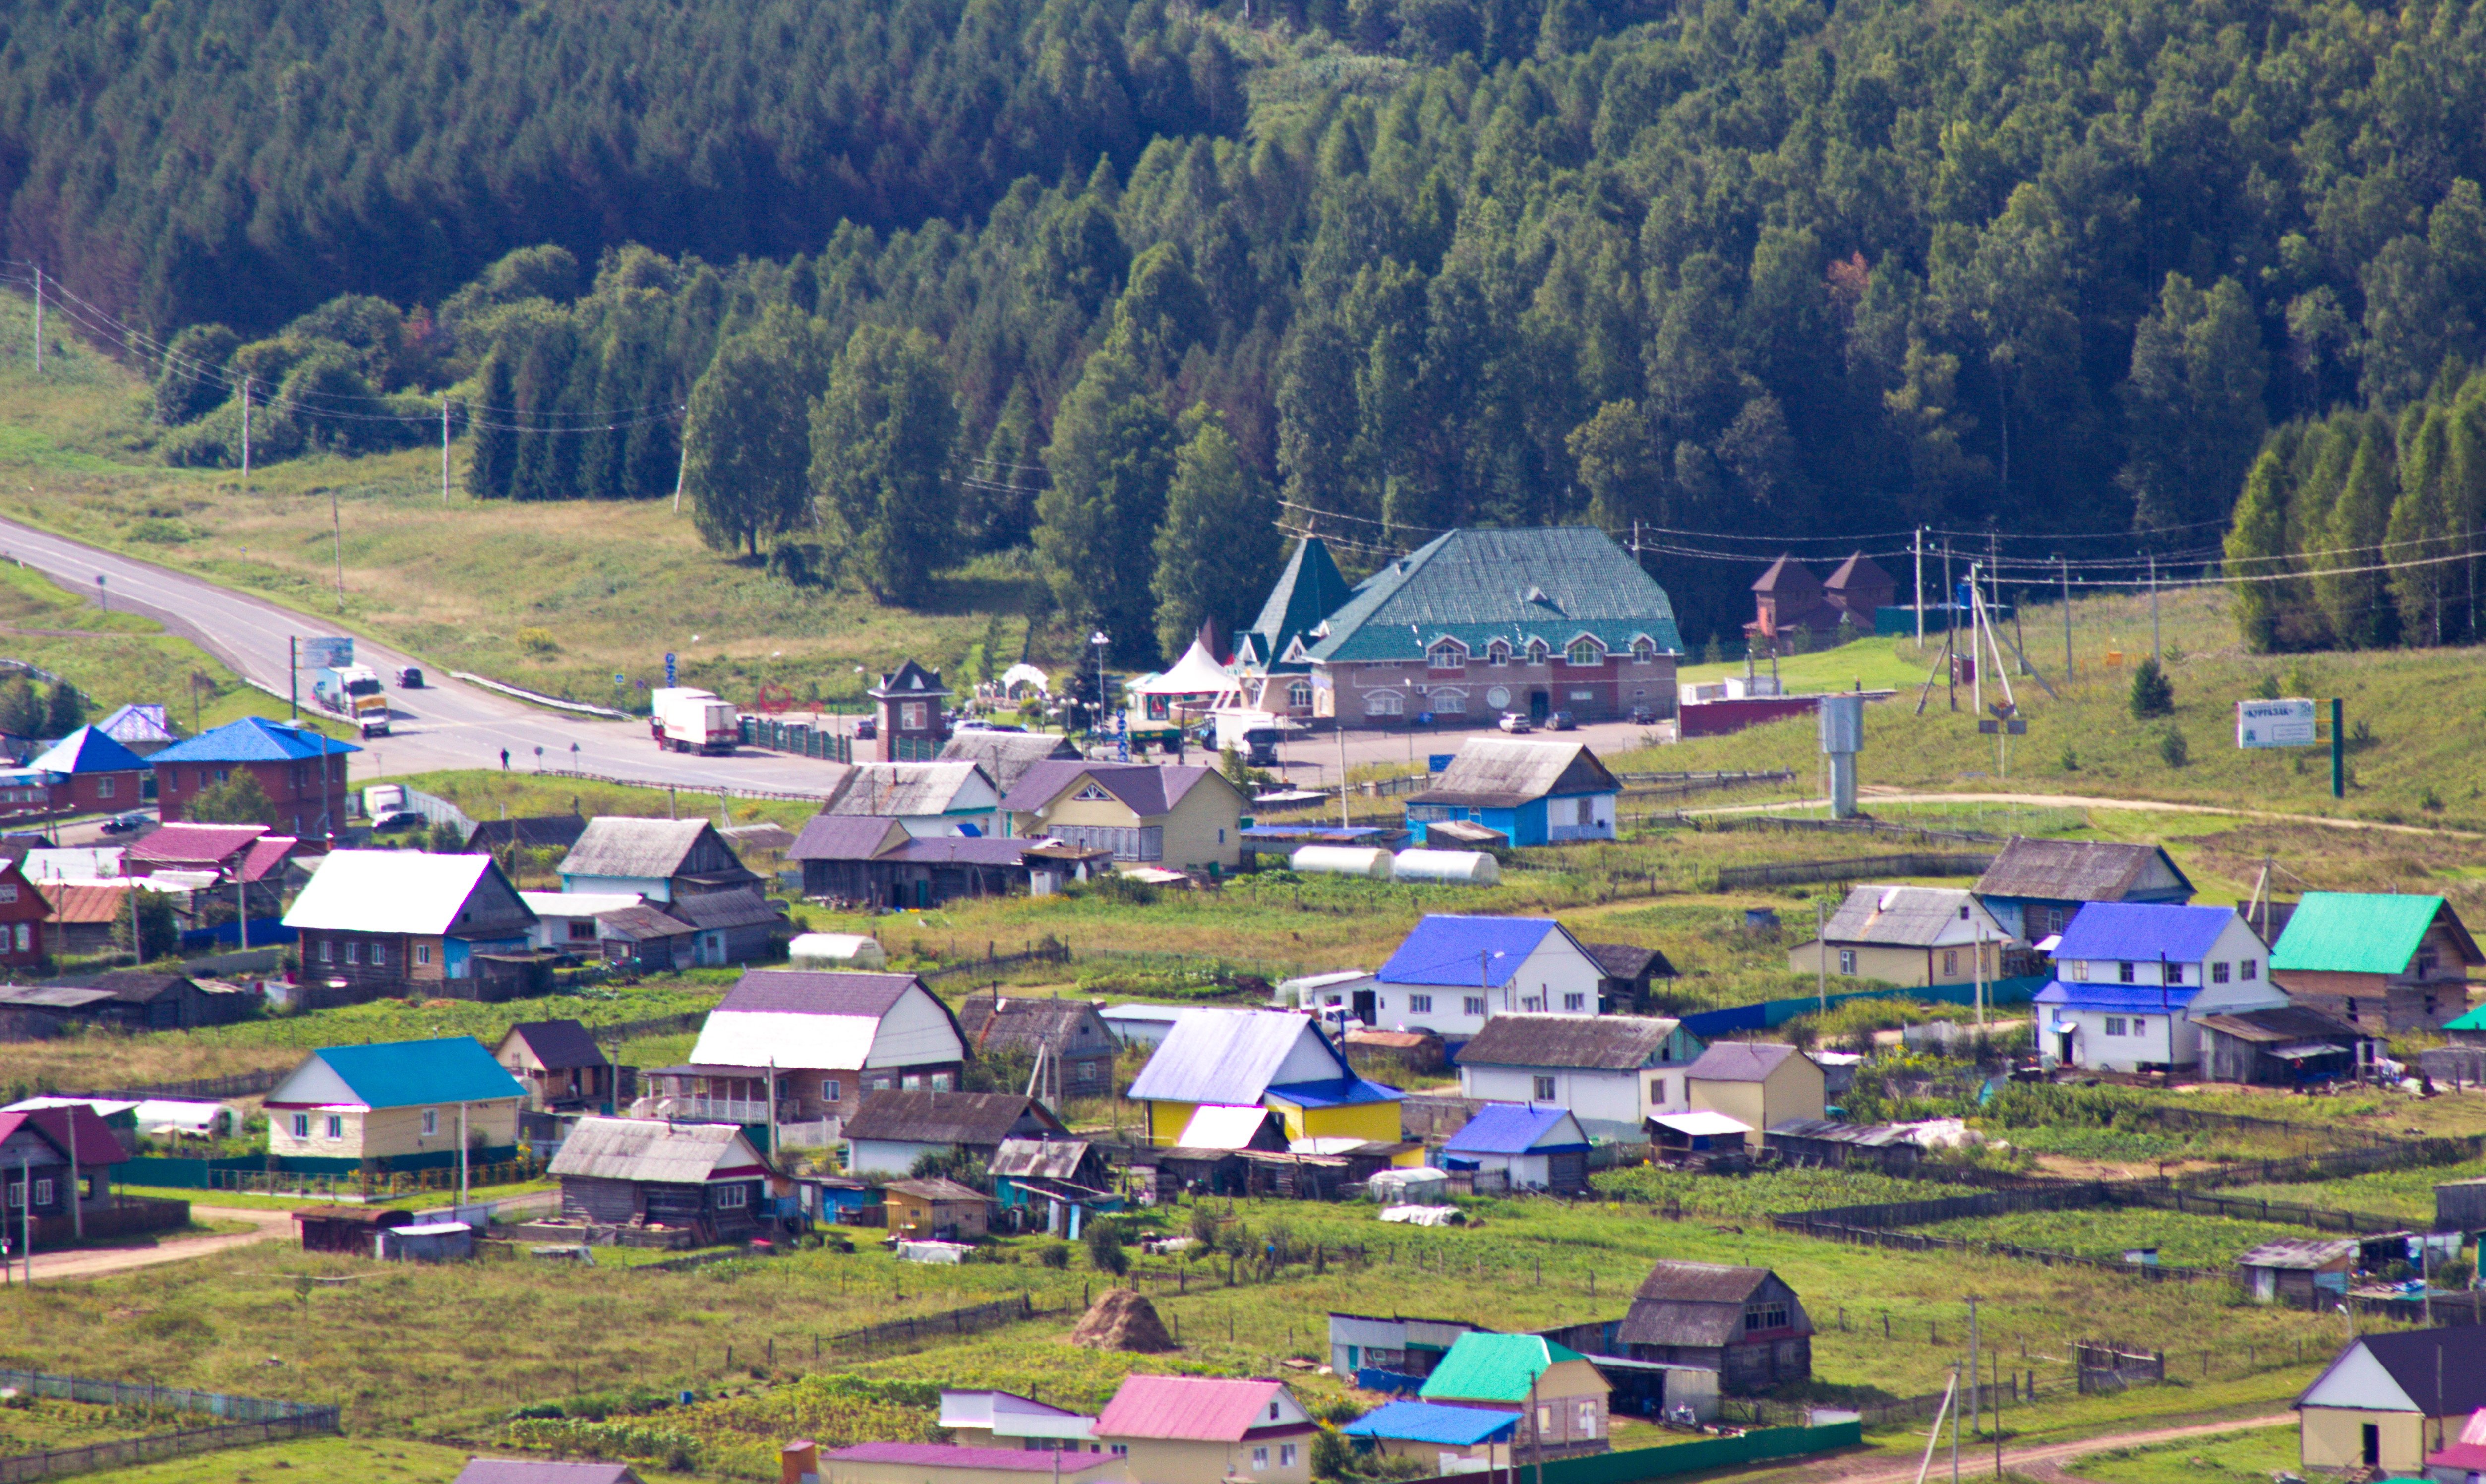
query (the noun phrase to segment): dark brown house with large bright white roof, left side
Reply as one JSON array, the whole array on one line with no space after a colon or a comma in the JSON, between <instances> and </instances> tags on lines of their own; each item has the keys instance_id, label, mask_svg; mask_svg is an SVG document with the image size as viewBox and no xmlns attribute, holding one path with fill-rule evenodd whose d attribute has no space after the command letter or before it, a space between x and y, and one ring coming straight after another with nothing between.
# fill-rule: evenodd
<instances>
[{"instance_id":1,"label":"dark brown house with large bright white roof, left side","mask_svg":"<svg viewBox=\"0 0 2486 1484\"><path fill-rule=\"evenodd\" d=\"M534 912L490 855L333 850L286 912L313 1007L428 989L505 999Z\"/></svg>"}]
</instances>

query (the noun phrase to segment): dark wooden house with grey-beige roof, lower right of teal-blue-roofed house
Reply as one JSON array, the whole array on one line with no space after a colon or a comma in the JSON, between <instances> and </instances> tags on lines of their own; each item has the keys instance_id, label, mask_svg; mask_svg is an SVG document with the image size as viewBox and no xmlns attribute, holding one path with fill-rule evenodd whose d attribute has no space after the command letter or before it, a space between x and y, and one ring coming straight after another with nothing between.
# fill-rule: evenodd
<instances>
[{"instance_id":1,"label":"dark wooden house with grey-beige roof, lower right of teal-blue-roofed house","mask_svg":"<svg viewBox=\"0 0 2486 1484\"><path fill-rule=\"evenodd\" d=\"M758 1225L771 1171L733 1124L587 1116L547 1173L562 1183L562 1221L679 1228L716 1243Z\"/></svg>"}]
</instances>

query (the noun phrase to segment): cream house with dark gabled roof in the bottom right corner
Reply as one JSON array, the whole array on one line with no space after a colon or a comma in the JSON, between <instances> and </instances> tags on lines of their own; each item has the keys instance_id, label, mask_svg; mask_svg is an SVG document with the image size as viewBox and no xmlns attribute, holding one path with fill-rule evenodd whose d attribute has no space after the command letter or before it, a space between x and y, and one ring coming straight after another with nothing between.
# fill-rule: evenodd
<instances>
[{"instance_id":1,"label":"cream house with dark gabled roof in the bottom right corner","mask_svg":"<svg viewBox=\"0 0 2486 1484\"><path fill-rule=\"evenodd\" d=\"M2305 1469L2424 1474L2426 1454L2459 1439L2486 1407L2486 1342L2476 1325L2359 1335L2297 1397Z\"/></svg>"}]
</instances>

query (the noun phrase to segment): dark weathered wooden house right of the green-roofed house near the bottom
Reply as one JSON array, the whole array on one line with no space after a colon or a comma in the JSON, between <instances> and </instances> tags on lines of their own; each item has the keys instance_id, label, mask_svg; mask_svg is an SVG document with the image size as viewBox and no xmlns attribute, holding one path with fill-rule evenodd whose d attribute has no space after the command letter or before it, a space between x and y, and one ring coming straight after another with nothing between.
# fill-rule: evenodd
<instances>
[{"instance_id":1,"label":"dark weathered wooden house right of the green-roofed house near the bottom","mask_svg":"<svg viewBox=\"0 0 2486 1484\"><path fill-rule=\"evenodd\" d=\"M1812 1317L1768 1268L1658 1263L1616 1327L1631 1360L1718 1375L1725 1395L1758 1395L1812 1377Z\"/></svg>"}]
</instances>

